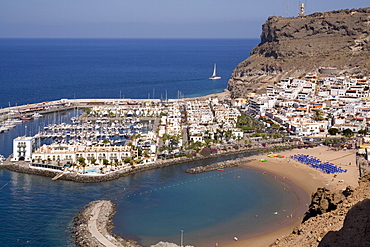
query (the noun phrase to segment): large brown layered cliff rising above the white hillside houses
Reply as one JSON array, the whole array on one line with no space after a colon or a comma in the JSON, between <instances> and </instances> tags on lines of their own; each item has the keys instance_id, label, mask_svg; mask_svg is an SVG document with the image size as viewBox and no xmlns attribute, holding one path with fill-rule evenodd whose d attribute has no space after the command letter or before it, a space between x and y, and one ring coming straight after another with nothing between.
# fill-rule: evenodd
<instances>
[{"instance_id":1,"label":"large brown layered cliff rising above the white hillside houses","mask_svg":"<svg viewBox=\"0 0 370 247\"><path fill-rule=\"evenodd\" d=\"M336 68L338 75L370 74L370 8L270 17L261 43L233 71L232 97L244 97L288 76Z\"/></svg>"}]
</instances>

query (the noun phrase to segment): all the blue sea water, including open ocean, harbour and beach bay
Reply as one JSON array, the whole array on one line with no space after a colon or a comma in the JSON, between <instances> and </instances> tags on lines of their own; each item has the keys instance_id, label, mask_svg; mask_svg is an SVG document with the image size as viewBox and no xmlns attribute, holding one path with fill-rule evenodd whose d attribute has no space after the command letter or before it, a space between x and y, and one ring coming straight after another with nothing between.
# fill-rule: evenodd
<instances>
[{"instance_id":1,"label":"all the blue sea water, including open ocean, harbour and beach bay","mask_svg":"<svg viewBox=\"0 0 370 247\"><path fill-rule=\"evenodd\" d=\"M58 99L166 99L222 92L258 39L0 39L0 107ZM209 80L217 64L220 80ZM0 154L77 111L47 114L0 134ZM93 200L116 204L113 232L150 246L255 236L286 224L299 200L276 176L246 167L185 170L244 155L146 171L110 182L73 182L0 169L0 246L75 246L73 217Z\"/></svg>"}]
</instances>

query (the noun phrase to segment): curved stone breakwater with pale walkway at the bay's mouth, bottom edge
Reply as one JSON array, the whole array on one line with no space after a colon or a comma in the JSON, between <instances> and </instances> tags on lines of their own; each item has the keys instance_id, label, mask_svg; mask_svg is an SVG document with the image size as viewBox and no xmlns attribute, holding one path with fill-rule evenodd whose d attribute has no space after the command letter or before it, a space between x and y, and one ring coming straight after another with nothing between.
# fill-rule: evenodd
<instances>
[{"instance_id":1,"label":"curved stone breakwater with pale walkway at the bay's mouth, bottom edge","mask_svg":"<svg viewBox=\"0 0 370 247\"><path fill-rule=\"evenodd\" d=\"M135 241L125 240L111 232L115 206L111 201L92 201L73 219L71 233L77 246L140 247Z\"/></svg>"}]
</instances>

